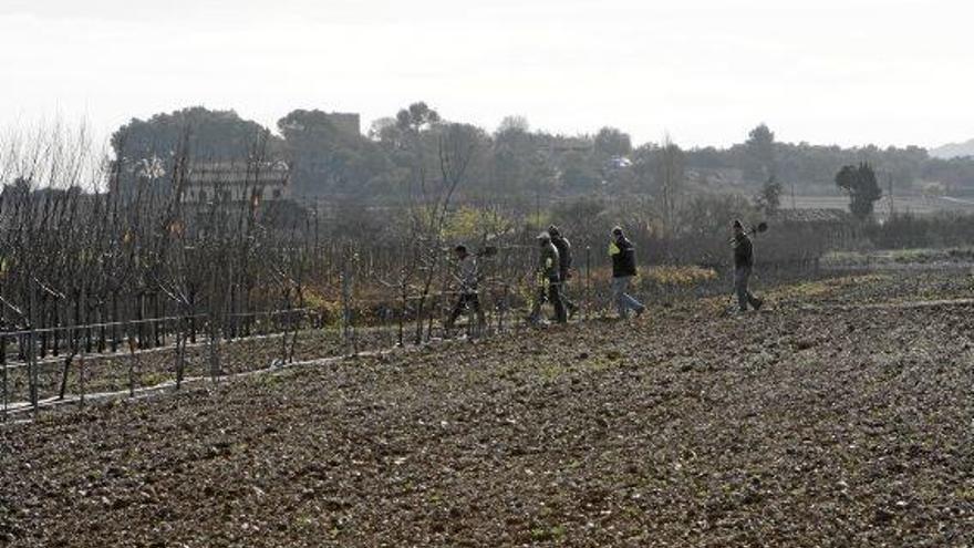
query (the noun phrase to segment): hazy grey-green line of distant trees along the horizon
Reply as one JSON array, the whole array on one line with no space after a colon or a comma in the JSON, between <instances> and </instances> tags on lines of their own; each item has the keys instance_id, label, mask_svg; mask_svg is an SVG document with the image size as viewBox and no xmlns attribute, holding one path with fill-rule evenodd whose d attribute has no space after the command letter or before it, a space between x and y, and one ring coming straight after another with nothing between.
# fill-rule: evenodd
<instances>
[{"instance_id":1,"label":"hazy grey-green line of distant trees along the horizon","mask_svg":"<svg viewBox=\"0 0 974 548\"><path fill-rule=\"evenodd\" d=\"M436 169L438 135L448 131L475 151L466 168L462 198L504 198L529 206L549 197L653 195L672 199L676 185L687 193L755 195L774 179L784 192L835 195L836 175L847 165L869 164L883 188L902 194L974 190L974 159L939 159L924 148L853 148L783 143L760 124L727 148L682 148L672 138L636 145L624 131L553 135L531 130L521 116L505 118L493 132L452 122L426 103L411 104L374 121L365 132L338 115L296 110L274 131L234 111L191 107L132 120L112 136L120 180L157 176L165 180L177 143L196 157L246 158L259 147L287 162L292 195L305 199L398 203L416 183L416 166ZM187 133L188 128L188 133ZM779 189L779 193L781 190ZM664 205L663 209L667 209Z\"/></svg>"}]
</instances>

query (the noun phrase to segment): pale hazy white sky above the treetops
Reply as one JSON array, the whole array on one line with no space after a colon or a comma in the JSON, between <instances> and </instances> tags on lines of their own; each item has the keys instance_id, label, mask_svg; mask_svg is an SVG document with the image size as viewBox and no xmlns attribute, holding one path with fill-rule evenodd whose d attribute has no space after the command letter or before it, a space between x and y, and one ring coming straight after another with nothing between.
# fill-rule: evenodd
<instances>
[{"instance_id":1,"label":"pale hazy white sky above the treetops","mask_svg":"<svg viewBox=\"0 0 974 548\"><path fill-rule=\"evenodd\" d=\"M489 130L727 145L974 138L974 2L0 0L0 126L415 101Z\"/></svg>"}]
</instances>

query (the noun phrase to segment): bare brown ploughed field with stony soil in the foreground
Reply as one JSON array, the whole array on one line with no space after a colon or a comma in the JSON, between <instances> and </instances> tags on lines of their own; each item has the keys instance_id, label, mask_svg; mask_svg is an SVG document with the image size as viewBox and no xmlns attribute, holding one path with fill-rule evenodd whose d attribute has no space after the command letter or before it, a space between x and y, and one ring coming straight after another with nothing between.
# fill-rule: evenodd
<instances>
[{"instance_id":1,"label":"bare brown ploughed field with stony soil in the foreground","mask_svg":"<svg viewBox=\"0 0 974 548\"><path fill-rule=\"evenodd\" d=\"M0 426L0 544L971 546L974 304L898 272ZM919 302L919 304L918 304Z\"/></svg>"}]
</instances>

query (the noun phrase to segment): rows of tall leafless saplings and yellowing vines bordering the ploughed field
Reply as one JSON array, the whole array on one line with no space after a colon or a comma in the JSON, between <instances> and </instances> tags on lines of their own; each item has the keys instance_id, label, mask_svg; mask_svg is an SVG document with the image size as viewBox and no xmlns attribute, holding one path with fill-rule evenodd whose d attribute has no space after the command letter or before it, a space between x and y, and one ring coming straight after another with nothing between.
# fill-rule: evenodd
<instances>
[{"instance_id":1,"label":"rows of tall leafless saplings and yellowing vines bordering the ploughed field","mask_svg":"<svg viewBox=\"0 0 974 548\"><path fill-rule=\"evenodd\" d=\"M545 219L501 203L455 204L473 154L462 144L439 141L439 173L418 176L416 200L359 210L362 224L383 217L370 230L270 199L267 185L287 173L259 142L242 163L204 161L186 146L166 169L124 155L94 162L83 139L59 133L0 148L0 178L14 182L0 196L4 420L104 392L178 390L186 379L463 334L444 330L456 300L457 242L496 250L479 265L487 332L465 334L525 329L538 294L533 238ZM200 199L199 180L209 199ZM601 316L608 271L599 235L614 220L564 220L577 244L569 292L582 303L579 319ZM647 239L651 226L633 226L654 261L641 293L676 301L724 283L723 259L707 251L696 257L711 259L675 260L694 246L669 242L667 255ZM705 239L726 255L723 237ZM807 270L817 252L810 246L789 270ZM783 263L794 267L792 259Z\"/></svg>"}]
</instances>

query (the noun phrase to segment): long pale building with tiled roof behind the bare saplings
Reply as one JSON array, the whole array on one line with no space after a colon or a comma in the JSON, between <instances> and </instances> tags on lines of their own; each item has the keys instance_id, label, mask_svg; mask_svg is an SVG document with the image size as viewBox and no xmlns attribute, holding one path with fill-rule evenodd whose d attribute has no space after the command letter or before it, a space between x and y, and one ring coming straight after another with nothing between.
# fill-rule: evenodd
<instances>
[{"instance_id":1,"label":"long pale building with tiled roof behind the bare saplings","mask_svg":"<svg viewBox=\"0 0 974 548\"><path fill-rule=\"evenodd\" d=\"M184 204L290 199L290 170L283 162L204 162L188 169Z\"/></svg>"}]
</instances>

